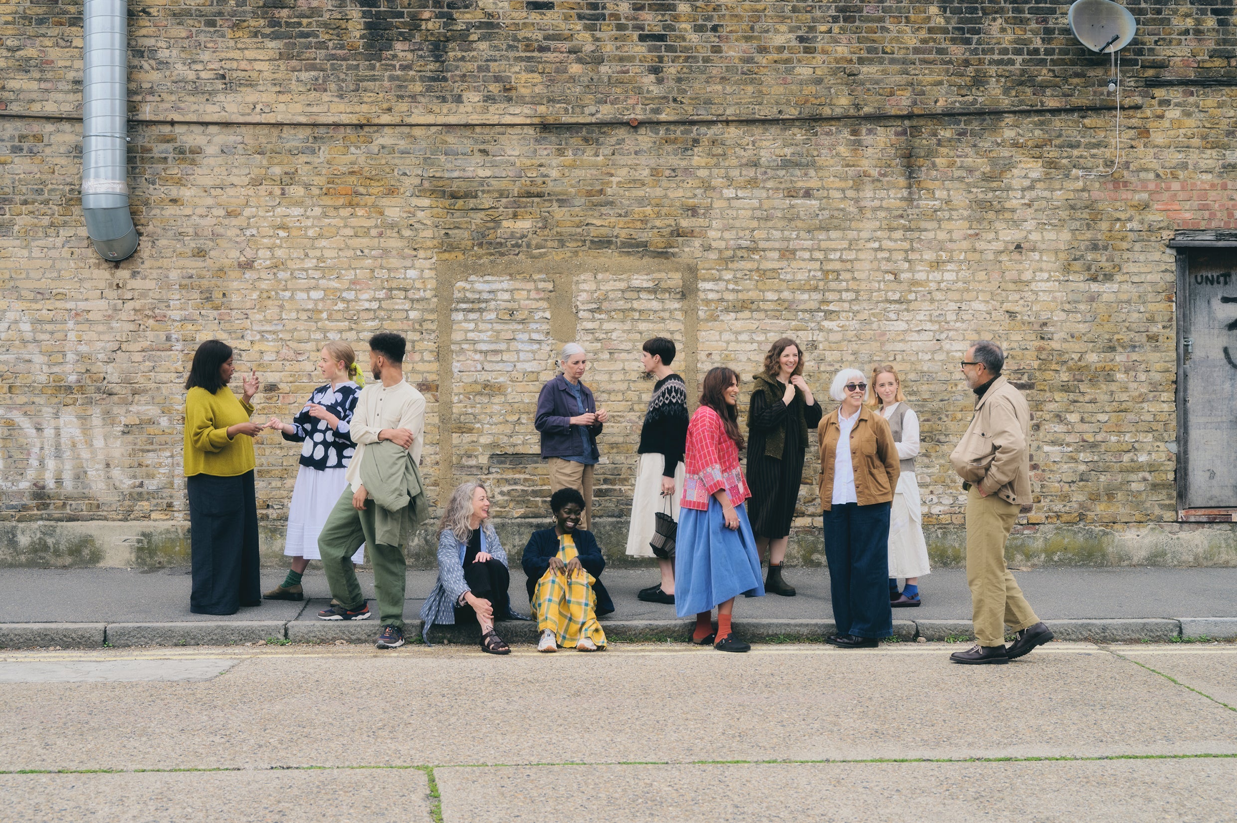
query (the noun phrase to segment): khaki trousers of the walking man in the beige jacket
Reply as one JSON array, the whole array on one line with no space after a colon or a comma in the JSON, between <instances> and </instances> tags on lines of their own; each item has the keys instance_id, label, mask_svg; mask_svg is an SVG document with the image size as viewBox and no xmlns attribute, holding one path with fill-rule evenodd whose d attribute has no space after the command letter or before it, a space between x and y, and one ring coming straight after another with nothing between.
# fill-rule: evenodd
<instances>
[{"instance_id":1,"label":"khaki trousers of the walking man in the beige jacket","mask_svg":"<svg viewBox=\"0 0 1237 823\"><path fill-rule=\"evenodd\" d=\"M971 620L981 646L1003 646L1004 627L1021 631L1039 623L1004 562L1006 538L1021 506L976 486L966 498L966 584L971 587Z\"/></svg>"}]
</instances>

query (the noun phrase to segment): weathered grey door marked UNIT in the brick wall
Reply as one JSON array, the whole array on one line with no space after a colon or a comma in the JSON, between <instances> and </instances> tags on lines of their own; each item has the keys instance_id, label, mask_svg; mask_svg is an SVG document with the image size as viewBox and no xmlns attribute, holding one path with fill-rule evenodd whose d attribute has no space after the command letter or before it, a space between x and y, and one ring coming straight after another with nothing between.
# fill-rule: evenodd
<instances>
[{"instance_id":1,"label":"weathered grey door marked UNIT in the brick wall","mask_svg":"<svg viewBox=\"0 0 1237 823\"><path fill-rule=\"evenodd\" d=\"M1184 509L1237 506L1237 249L1183 249Z\"/></svg>"}]
</instances>

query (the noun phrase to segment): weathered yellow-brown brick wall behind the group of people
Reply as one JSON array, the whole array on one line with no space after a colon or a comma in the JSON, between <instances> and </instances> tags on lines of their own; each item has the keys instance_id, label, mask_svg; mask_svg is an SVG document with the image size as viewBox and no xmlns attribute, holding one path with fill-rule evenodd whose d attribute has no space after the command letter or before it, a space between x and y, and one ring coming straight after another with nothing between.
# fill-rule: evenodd
<instances>
[{"instance_id":1,"label":"weathered yellow-brown brick wall behind the group of people","mask_svg":"<svg viewBox=\"0 0 1237 823\"><path fill-rule=\"evenodd\" d=\"M82 223L80 125L0 119L0 516L183 524L181 384L200 340L257 368L265 418L317 385L323 340L364 360L393 328L429 400L435 495L484 474L507 519L543 516L533 405L580 339L615 417L597 507L618 524L649 387L636 349L668 330L691 375L750 376L797 337L821 397L837 368L898 363L924 420L925 522L956 543L956 363L985 335L1035 411L1028 527L1231 540L1174 524L1166 248L1179 228L1233 226L1231 4L1129 5L1111 178L1076 173L1112 163L1111 111L461 125L1111 101L1108 59L1066 9L134 0L135 119L323 125L134 123L141 246L111 265ZM79 111L80 14L0 1L0 110ZM428 125L359 125L401 121ZM272 528L294 474L296 449L265 437Z\"/></svg>"}]
</instances>

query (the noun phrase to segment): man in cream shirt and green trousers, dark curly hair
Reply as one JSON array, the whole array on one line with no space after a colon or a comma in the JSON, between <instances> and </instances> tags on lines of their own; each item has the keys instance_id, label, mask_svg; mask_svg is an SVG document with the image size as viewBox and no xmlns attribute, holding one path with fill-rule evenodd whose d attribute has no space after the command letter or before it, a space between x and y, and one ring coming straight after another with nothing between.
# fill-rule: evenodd
<instances>
[{"instance_id":1,"label":"man in cream shirt and green trousers, dark curly hair","mask_svg":"<svg viewBox=\"0 0 1237 823\"><path fill-rule=\"evenodd\" d=\"M318 551L327 572L330 595L339 603L318 613L323 620L366 620L370 608L353 568L353 553L365 543L374 564L374 594L382 623L379 648L403 645L403 595L407 559L403 546L380 543L375 530L375 504L361 484L366 446L379 441L412 452L421 463L426 431L426 399L403 379L404 339L391 332L370 338L374 380L361 390L353 412L351 432L356 452L348 464L348 486L318 535Z\"/></svg>"}]
</instances>

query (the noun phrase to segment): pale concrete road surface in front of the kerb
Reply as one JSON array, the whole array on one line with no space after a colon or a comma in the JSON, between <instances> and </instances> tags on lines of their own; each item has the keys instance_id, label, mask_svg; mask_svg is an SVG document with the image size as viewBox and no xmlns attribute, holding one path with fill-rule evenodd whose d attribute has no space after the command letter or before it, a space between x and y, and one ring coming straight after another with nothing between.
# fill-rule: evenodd
<instances>
[{"instance_id":1,"label":"pale concrete road surface in front of the kerb","mask_svg":"<svg viewBox=\"0 0 1237 823\"><path fill-rule=\"evenodd\" d=\"M9 652L4 817L1233 819L1237 645L956 647Z\"/></svg>"}]
</instances>

